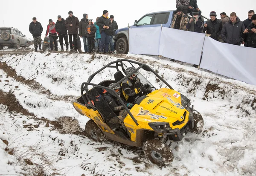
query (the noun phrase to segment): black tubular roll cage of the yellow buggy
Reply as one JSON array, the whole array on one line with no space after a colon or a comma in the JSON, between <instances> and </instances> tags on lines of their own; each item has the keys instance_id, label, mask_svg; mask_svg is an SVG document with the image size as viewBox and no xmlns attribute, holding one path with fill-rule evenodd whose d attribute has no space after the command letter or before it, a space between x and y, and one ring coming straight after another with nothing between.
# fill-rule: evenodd
<instances>
[{"instance_id":1,"label":"black tubular roll cage of the yellow buggy","mask_svg":"<svg viewBox=\"0 0 256 176\"><path fill-rule=\"evenodd\" d=\"M117 72L119 71L119 67L122 68L122 71L125 72L125 63L124 62L128 62L131 64L131 66L133 66L134 64L137 64L139 67L137 67L133 72L131 72L130 74L124 76L123 78L119 79L119 80L115 80L116 84L113 85L112 87L106 87L103 85L99 85L99 84L93 84L91 83L92 79L94 78L95 75L97 75L99 72L101 72L102 70L104 70L105 68L116 68ZM127 66L126 66L127 67ZM107 65L103 66L101 69L99 69L98 71L96 71L95 73L93 73L92 75L89 76L87 82L84 82L81 84L81 97L83 98L87 108L98 110L97 107L95 107L95 104L90 103L92 100L95 100L95 95L92 95L92 91L88 90L88 86L93 86L93 88L96 89L105 89L107 90L111 95L115 96L119 102L122 104L122 106L125 108L125 110L128 112L128 114L131 116L131 118L133 119L133 121L135 122L135 124L139 125L137 120L134 118L134 116L131 114L130 110L126 107L125 103L122 101L122 99L117 95L117 93L113 90L113 87L115 87L118 84L121 84L122 81L124 81L126 78L130 77L133 73L138 72L139 69L144 69L145 71L150 71L152 73L154 73L154 75L157 76L157 78L159 78L161 81L163 81L164 84L166 84L166 86L168 86L170 89L173 89L160 75L158 75L153 69L151 69L148 65L144 64L144 63L140 63L140 62L136 62L136 61L132 61L129 59L118 59L116 61L113 61L111 63L108 63ZM85 93L84 93L85 91ZM100 111L99 111L100 112Z\"/></svg>"}]
</instances>

